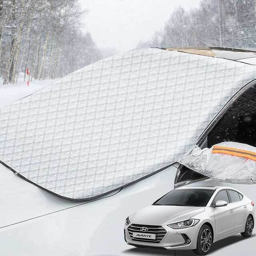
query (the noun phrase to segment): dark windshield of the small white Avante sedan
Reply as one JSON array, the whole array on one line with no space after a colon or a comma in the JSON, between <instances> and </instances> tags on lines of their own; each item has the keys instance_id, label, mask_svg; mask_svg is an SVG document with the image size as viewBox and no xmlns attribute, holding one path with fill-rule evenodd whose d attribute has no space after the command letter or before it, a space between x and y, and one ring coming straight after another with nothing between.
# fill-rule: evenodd
<instances>
[{"instance_id":1,"label":"dark windshield of the small white Avante sedan","mask_svg":"<svg viewBox=\"0 0 256 256\"><path fill-rule=\"evenodd\" d=\"M177 189L172 190L154 202L154 205L206 206L214 190L211 189Z\"/></svg>"}]
</instances>

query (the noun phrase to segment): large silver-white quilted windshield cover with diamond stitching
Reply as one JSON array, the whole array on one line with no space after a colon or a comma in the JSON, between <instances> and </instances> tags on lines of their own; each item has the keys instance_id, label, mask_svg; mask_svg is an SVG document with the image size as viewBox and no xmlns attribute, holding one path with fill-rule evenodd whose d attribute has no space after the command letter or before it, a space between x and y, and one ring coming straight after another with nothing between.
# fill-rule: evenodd
<instances>
[{"instance_id":1,"label":"large silver-white quilted windshield cover with diamond stitching","mask_svg":"<svg viewBox=\"0 0 256 256\"><path fill-rule=\"evenodd\" d=\"M124 52L2 108L0 160L49 192L92 199L176 162L253 78L231 60Z\"/></svg>"}]
</instances>

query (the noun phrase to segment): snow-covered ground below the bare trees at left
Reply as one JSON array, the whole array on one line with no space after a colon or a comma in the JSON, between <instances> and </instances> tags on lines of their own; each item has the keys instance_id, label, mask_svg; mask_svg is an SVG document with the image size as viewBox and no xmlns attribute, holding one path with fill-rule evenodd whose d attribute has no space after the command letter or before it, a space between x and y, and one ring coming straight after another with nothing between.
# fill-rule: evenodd
<instances>
[{"instance_id":1,"label":"snow-covered ground below the bare trees at left","mask_svg":"<svg viewBox=\"0 0 256 256\"><path fill-rule=\"evenodd\" d=\"M58 79L32 80L27 86L24 82L24 73L20 73L16 84L0 84L0 108L38 91L56 80Z\"/></svg>"}]
</instances>

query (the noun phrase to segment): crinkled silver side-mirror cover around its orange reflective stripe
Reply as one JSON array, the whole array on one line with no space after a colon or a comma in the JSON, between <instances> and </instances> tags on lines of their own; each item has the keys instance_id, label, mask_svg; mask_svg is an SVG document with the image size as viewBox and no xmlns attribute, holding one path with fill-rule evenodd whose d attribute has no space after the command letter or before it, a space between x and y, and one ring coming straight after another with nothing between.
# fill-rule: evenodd
<instances>
[{"instance_id":1,"label":"crinkled silver side-mirror cover around its orange reflective stripe","mask_svg":"<svg viewBox=\"0 0 256 256\"><path fill-rule=\"evenodd\" d=\"M256 148L238 142L221 142L216 146L248 150L256 153ZM188 168L222 182L235 184L256 184L256 161L240 156L212 153L212 148L198 146L186 153L179 162Z\"/></svg>"}]
</instances>

